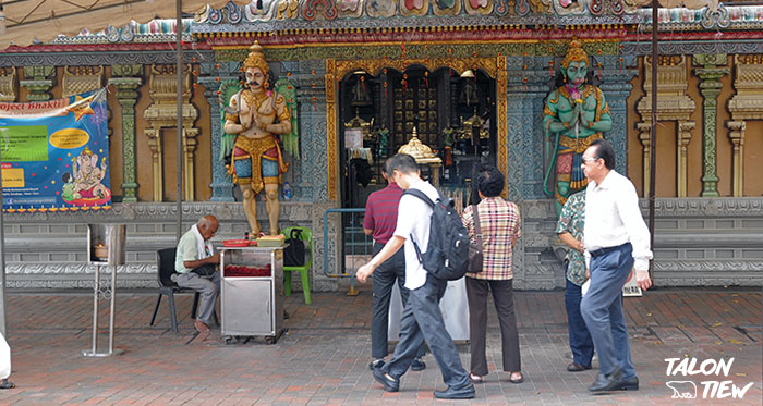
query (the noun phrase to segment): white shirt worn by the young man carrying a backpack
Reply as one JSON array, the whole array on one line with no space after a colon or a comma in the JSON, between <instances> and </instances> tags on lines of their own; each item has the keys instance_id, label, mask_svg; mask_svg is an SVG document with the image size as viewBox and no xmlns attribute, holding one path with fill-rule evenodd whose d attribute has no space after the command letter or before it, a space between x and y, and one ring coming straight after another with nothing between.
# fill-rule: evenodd
<instances>
[{"instance_id":1,"label":"white shirt worn by the young man carrying a backpack","mask_svg":"<svg viewBox=\"0 0 763 406\"><path fill-rule=\"evenodd\" d=\"M439 198L437 189L425 181L416 181L409 188L423 192L432 201L436 201ZM403 245L405 253L405 287L409 290L421 287L426 283L426 270L419 262L411 235L416 241L422 254L426 253L429 243L431 220L432 207L426 201L416 196L402 195L398 206L398 224L395 229L395 235L405 238L405 244Z\"/></svg>"}]
</instances>

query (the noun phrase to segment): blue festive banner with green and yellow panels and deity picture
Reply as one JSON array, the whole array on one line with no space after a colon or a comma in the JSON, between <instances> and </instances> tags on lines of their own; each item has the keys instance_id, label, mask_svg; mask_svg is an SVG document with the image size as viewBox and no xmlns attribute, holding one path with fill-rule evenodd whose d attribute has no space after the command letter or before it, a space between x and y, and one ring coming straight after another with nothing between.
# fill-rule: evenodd
<instances>
[{"instance_id":1,"label":"blue festive banner with green and yellow panels and deity picture","mask_svg":"<svg viewBox=\"0 0 763 406\"><path fill-rule=\"evenodd\" d=\"M106 89L0 102L4 212L111 208Z\"/></svg>"}]
</instances>

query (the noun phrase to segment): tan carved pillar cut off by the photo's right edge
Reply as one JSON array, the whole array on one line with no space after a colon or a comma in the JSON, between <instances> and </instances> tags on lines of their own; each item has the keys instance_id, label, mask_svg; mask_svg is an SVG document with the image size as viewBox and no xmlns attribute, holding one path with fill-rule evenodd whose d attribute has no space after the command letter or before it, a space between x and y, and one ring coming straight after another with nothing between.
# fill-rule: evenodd
<instances>
[{"instance_id":1,"label":"tan carved pillar cut off by the photo's right edge","mask_svg":"<svg viewBox=\"0 0 763 406\"><path fill-rule=\"evenodd\" d=\"M734 145L734 196L742 196L744 176L744 130L747 120L763 120L763 54L738 54L734 57L734 87L737 94L728 101L731 130L728 137Z\"/></svg>"}]
</instances>

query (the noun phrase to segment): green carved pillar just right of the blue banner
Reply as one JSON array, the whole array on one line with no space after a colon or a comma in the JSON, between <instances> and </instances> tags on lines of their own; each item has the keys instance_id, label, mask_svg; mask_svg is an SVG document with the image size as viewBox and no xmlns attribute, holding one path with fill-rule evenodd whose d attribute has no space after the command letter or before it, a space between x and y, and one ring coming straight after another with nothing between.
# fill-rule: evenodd
<instances>
[{"instance_id":1,"label":"green carved pillar just right of the blue banner","mask_svg":"<svg viewBox=\"0 0 763 406\"><path fill-rule=\"evenodd\" d=\"M143 83L143 65L113 65L109 85L117 88L122 106L122 201L137 201L137 167L135 161L135 103Z\"/></svg>"}]
</instances>

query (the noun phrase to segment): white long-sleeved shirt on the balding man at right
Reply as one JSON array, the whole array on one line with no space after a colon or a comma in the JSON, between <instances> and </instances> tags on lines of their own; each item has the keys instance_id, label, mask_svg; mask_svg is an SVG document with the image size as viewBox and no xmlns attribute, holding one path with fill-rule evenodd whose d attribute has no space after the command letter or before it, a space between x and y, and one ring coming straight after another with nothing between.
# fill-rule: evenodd
<instances>
[{"instance_id":1,"label":"white long-sleeved shirt on the balding man at right","mask_svg":"<svg viewBox=\"0 0 763 406\"><path fill-rule=\"evenodd\" d=\"M652 259L650 233L639 209L639 196L630 180L609 171L601 185L591 181L585 189L585 226L583 229L586 264L590 251L633 246L633 268L647 270Z\"/></svg>"}]
</instances>

